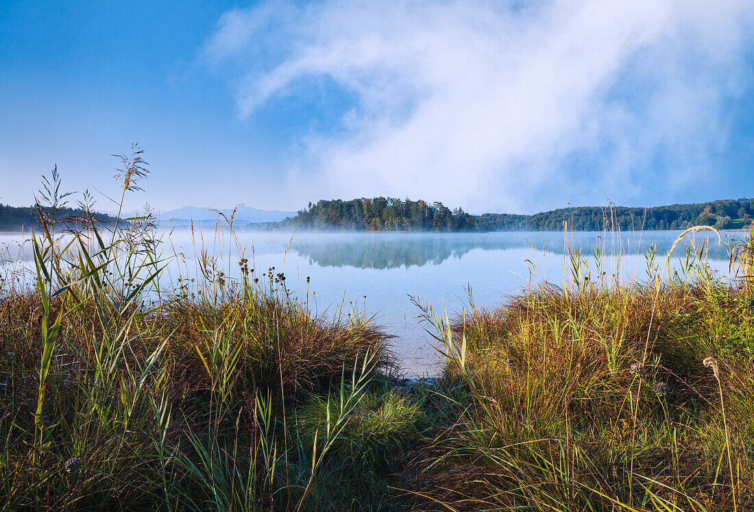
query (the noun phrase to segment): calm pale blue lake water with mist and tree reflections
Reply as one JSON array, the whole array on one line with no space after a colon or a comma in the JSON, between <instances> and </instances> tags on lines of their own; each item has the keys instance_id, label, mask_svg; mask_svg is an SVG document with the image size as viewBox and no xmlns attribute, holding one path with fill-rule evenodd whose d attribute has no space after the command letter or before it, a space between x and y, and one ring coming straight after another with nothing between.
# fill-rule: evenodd
<instances>
[{"instance_id":1,"label":"calm pale blue lake water with mist and tree reflections","mask_svg":"<svg viewBox=\"0 0 754 512\"><path fill-rule=\"evenodd\" d=\"M417 323L418 308L409 296L433 305L449 316L467 307L467 288L477 306L494 306L506 296L519 293L541 281L562 286L572 280L572 263L567 247L581 250L582 259L596 276L594 247L602 251L602 271L609 277L618 268L621 281L647 277L645 250L654 246L657 265L664 267L664 255L679 231L624 232L620 238L596 232L576 232L566 237L562 232L505 232L483 234L354 234L290 233L240 231L236 238L214 232L201 236L189 231L162 234L165 255L177 253L166 269L163 284L176 282L179 276L198 273L196 255L204 249L219 259L225 274L238 277L238 247L245 247L249 266L262 272L274 266L275 272L287 276L287 287L305 299L308 284L309 307L316 314L332 316L345 302L375 316L375 321L396 335L394 348L408 373L433 373L437 354L425 324ZM711 236L710 236L711 235ZM728 275L728 253L718 247L717 236L688 235L676 248L671 267L681 268L689 244L699 247L710 242L707 256L710 266ZM725 235L725 242L737 234ZM20 247L18 234L0 235L0 268L5 271L28 265L31 253ZM289 245L290 244L290 245ZM429 327L429 326L426 326Z\"/></svg>"}]
</instances>

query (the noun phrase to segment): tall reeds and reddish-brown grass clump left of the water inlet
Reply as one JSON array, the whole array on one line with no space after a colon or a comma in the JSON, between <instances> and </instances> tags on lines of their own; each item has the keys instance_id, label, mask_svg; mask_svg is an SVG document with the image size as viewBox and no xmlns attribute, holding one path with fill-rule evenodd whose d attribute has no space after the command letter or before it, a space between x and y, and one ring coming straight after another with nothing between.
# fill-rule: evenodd
<instances>
[{"instance_id":1,"label":"tall reeds and reddish-brown grass clump left of the water inlet","mask_svg":"<svg viewBox=\"0 0 754 512\"><path fill-rule=\"evenodd\" d=\"M122 197L146 175L142 154L118 157ZM204 252L192 287L161 287L176 255L149 216L77 220L41 216L35 287L0 289L2 507L336 507L327 489L356 464L330 450L377 407L362 399L396 371L391 336L355 310L312 316L284 274L260 280L243 258L241 281ZM314 400L329 404L323 431L296 422ZM379 481L360 499L386 492Z\"/></svg>"}]
</instances>

